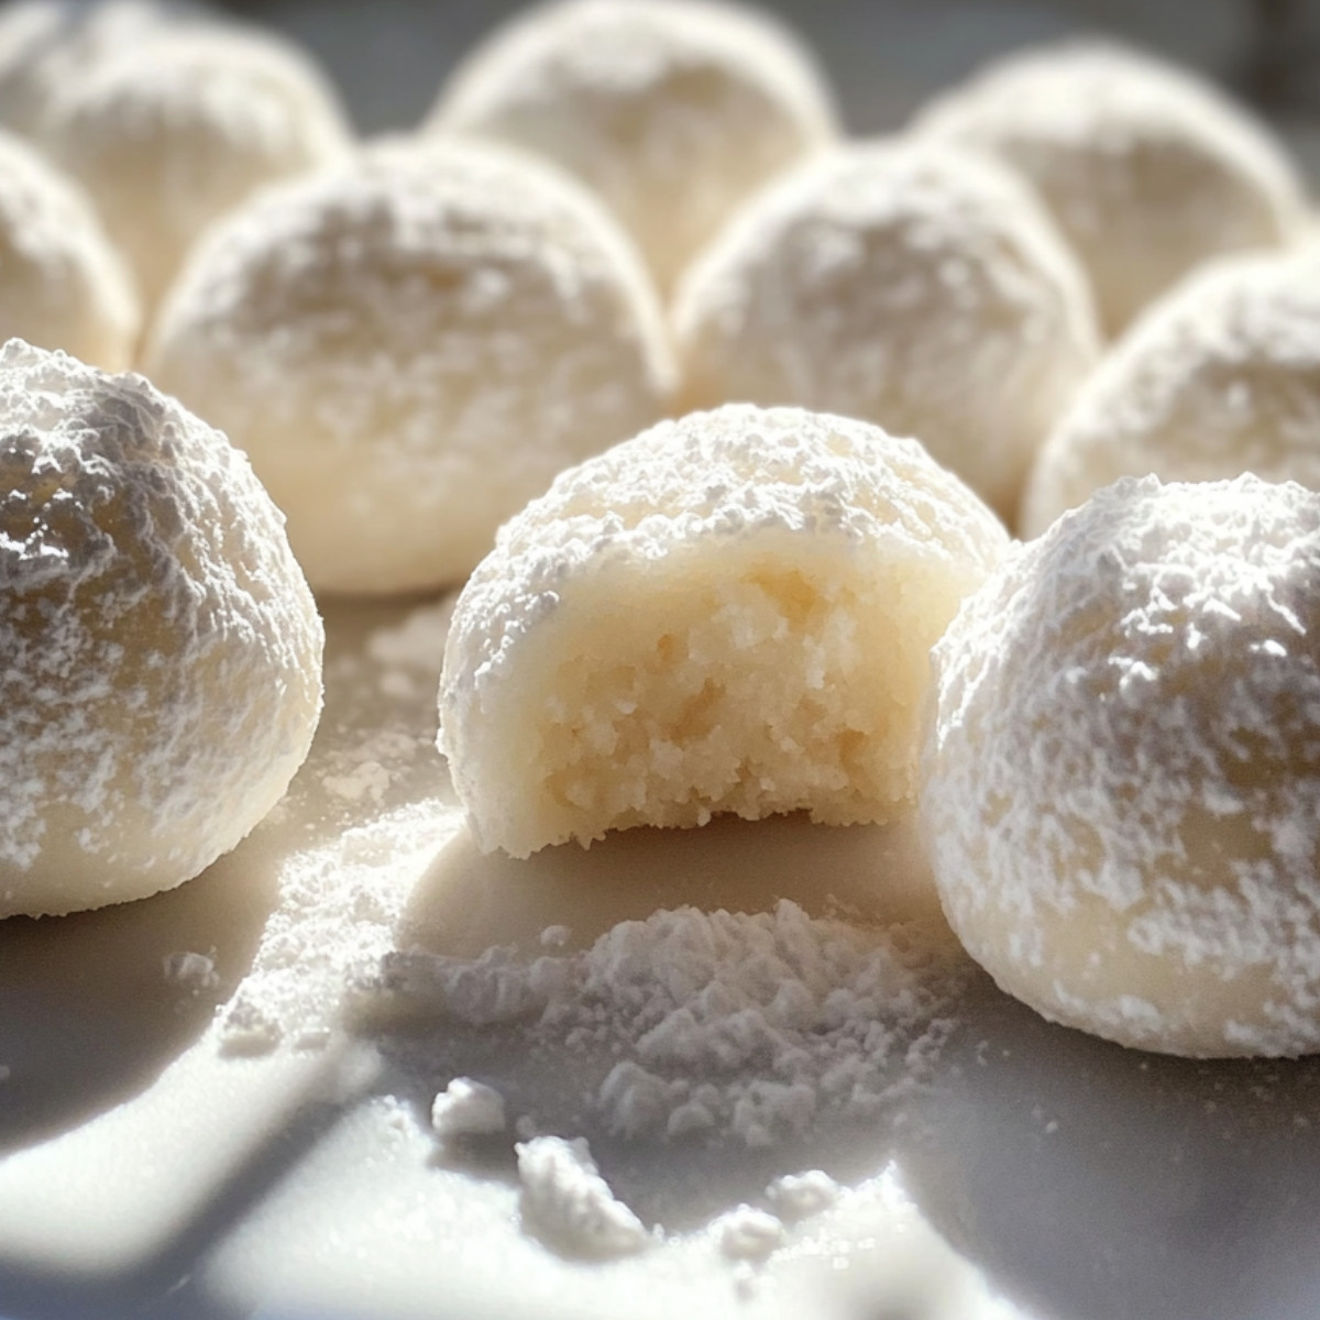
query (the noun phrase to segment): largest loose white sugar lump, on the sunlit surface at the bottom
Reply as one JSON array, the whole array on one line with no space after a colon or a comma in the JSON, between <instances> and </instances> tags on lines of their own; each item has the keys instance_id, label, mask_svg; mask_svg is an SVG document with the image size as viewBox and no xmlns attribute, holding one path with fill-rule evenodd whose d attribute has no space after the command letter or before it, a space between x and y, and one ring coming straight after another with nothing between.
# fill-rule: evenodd
<instances>
[{"instance_id":1,"label":"largest loose white sugar lump, on the sunlit surface at the bottom","mask_svg":"<svg viewBox=\"0 0 1320 1320\"><path fill-rule=\"evenodd\" d=\"M533 1137L520 1142L523 1213L577 1255L631 1255L647 1243L642 1221L610 1191L586 1140Z\"/></svg>"}]
</instances>

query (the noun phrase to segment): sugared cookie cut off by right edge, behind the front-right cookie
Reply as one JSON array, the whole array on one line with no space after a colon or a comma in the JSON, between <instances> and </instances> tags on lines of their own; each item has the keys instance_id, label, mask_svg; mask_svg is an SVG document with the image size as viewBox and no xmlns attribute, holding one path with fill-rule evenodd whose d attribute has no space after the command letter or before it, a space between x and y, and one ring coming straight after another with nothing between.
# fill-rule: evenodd
<instances>
[{"instance_id":1,"label":"sugared cookie cut off by right edge, behind the front-right cookie","mask_svg":"<svg viewBox=\"0 0 1320 1320\"><path fill-rule=\"evenodd\" d=\"M1320 490L1320 248L1225 257L1152 305L1041 449L1023 533L1119 477Z\"/></svg>"}]
</instances>

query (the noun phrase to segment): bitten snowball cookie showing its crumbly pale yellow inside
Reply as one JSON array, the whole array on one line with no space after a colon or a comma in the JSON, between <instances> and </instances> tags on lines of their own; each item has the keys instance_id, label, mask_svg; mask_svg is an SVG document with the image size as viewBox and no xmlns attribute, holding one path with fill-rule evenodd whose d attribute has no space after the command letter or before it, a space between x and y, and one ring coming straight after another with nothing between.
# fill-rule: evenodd
<instances>
[{"instance_id":1,"label":"bitten snowball cookie showing its crumbly pale yellow inside","mask_svg":"<svg viewBox=\"0 0 1320 1320\"><path fill-rule=\"evenodd\" d=\"M796 408L692 413L564 473L445 648L438 744L478 845L886 818L931 644L1006 545L916 441Z\"/></svg>"}]
</instances>

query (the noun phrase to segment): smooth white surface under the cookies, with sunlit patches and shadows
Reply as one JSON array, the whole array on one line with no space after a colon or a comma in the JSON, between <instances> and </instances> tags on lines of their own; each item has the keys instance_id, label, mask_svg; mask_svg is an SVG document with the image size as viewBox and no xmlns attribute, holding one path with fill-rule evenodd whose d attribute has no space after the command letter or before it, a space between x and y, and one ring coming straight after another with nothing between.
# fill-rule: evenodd
<instances>
[{"instance_id":1,"label":"smooth white surface under the cookies, with sunlit patches and shadows","mask_svg":"<svg viewBox=\"0 0 1320 1320\"><path fill-rule=\"evenodd\" d=\"M0 1312L843 1320L917 1287L895 1246L915 1236L939 1258L933 1276L917 1270L921 1287L964 1290L919 1316L1011 1315L975 1270L1040 1320L1315 1315L1315 1060L1144 1056L1052 1027L975 978L924 1084L866 1123L744 1150L597 1130L578 1114L576 1059L531 1056L516 1023L380 1024L354 1048L327 1045L343 969L326 946L366 890L327 884L325 909L309 907L309 857L335 876L396 874L414 929L462 956L536 945L550 925L581 945L680 902L818 908L826 890L866 902L879 870L919 879L899 838L795 821L480 858L455 836L429 751L433 675L411 660L438 619L412 620L418 647L385 628L405 614L331 611L313 760L281 818L238 853L176 894L0 924ZM433 828L425 847L418 817ZM281 968L298 923L323 936ZM178 952L213 957L219 985L170 982L164 960ZM207 1030L211 1005L281 994L302 997L298 1032L259 1057L218 1052L227 1028L222 1015ZM591 1263L524 1232L513 1134L445 1151L429 1131L454 1076L498 1085L511 1121L587 1137L614 1195L663 1239ZM843 1185L840 1203L788 1225L764 1263L729 1259L713 1221L744 1203L774 1210L767 1185L814 1168ZM960 1272L940 1238L975 1270Z\"/></svg>"}]
</instances>

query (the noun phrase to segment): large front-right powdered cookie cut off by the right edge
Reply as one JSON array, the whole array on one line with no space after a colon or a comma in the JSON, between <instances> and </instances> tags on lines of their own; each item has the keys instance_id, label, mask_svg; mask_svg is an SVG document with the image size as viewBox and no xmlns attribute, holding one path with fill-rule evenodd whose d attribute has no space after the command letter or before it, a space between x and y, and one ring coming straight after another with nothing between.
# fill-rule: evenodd
<instances>
[{"instance_id":1,"label":"large front-right powdered cookie cut off by the right edge","mask_svg":"<svg viewBox=\"0 0 1320 1320\"><path fill-rule=\"evenodd\" d=\"M923 830L1038 1011L1191 1056L1320 1048L1320 495L1123 479L935 649Z\"/></svg>"}]
</instances>

